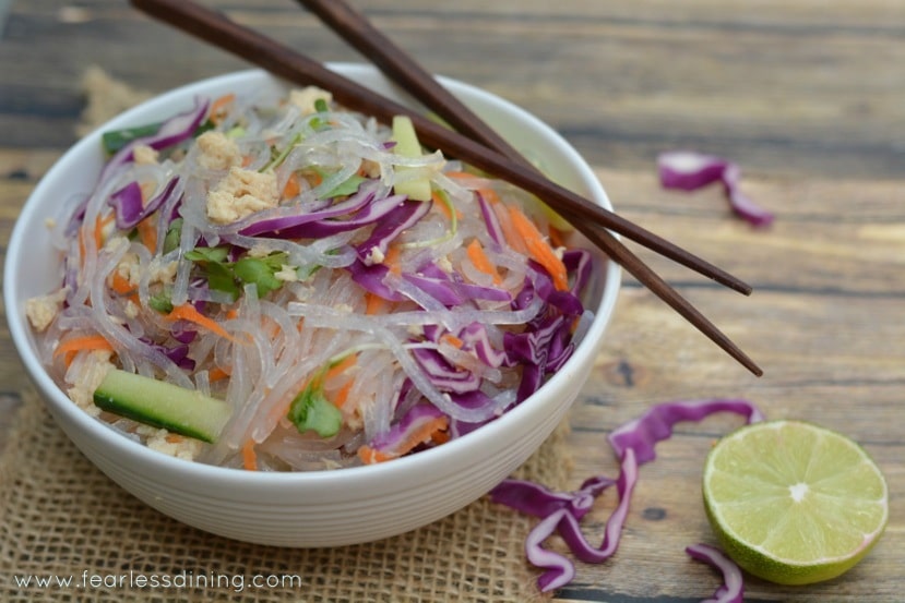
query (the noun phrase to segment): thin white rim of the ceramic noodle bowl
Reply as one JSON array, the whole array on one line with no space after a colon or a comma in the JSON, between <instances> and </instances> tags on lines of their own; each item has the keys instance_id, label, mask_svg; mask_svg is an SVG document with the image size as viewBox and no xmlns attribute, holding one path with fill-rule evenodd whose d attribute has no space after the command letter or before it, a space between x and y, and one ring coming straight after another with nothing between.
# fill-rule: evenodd
<instances>
[{"instance_id":1,"label":"thin white rim of the ceramic noodle bowl","mask_svg":"<svg viewBox=\"0 0 905 603\"><path fill-rule=\"evenodd\" d=\"M326 63L326 67L353 79L356 76L376 79L376 83L366 84L369 87L382 84L389 85L391 88L398 89L374 67L367 63L330 62ZM556 141L558 145L558 154L564 156L569 165L576 171L581 185L586 188L590 193L587 196L604 207L609 209L612 208L603 184L594 174L591 166L577 153L577 150L550 125L512 101L507 100L505 98L502 98L487 89L443 75L438 75L437 77L443 85L448 86L455 94L465 94L466 96L479 99L481 102L497 106L497 108L505 111L507 113L511 113L517 121L531 124L531 128L539 132L539 134L544 137ZM99 137L103 131L134 124L135 119L141 116L154 110L162 110L167 105L171 105L177 100L184 101L184 99L191 98L192 95L200 94L203 91L207 91L213 87L229 85L235 86L240 83L248 85L253 82L276 83L284 86L293 85L260 69L246 69L205 77L155 95L135 107L132 107L111 118L104 124L93 130L90 134L83 136L80 141L74 143L44 174L22 206L22 210L20 216L16 218L16 222L9 239L4 274L12 274L15 266L24 261L24 248L26 246L24 243L24 239L26 237L24 227L25 222L29 221L25 218L28 218L32 214L36 213L37 209L35 200L38 200L46 194L45 189L51 185L53 176L57 172L62 171L64 166L68 164L83 160L83 155L88 153L87 147L99 144ZM405 93L402 91L400 94L404 95ZM597 304L597 307L594 309L594 321L592 322L591 328L588 329L584 340L580 342L572 357L567 362L565 367L570 365L577 365L580 362L593 362L593 358L588 357L593 357L597 353L598 343L603 339L604 331L612 317L616 301L620 291L620 285L621 268L611 258L607 258L605 278L602 284L603 293L600 302ZM27 326L27 318L24 317L24 309L22 307L23 304L21 304L16 299L15 289L16 288L11 288L9 286L3 288L3 301L7 307L7 322L11 339L13 340L21 361L25 365L28 376L43 394L41 397L44 398L44 403L50 408L51 411L53 411L55 419L57 412L62 413L68 421L74 423L79 429L85 432L88 437L107 441L111 447L116 448L118 454L130 457L131 460L141 463L147 469L174 472L188 480L216 481L218 484L226 486L240 485L243 489L275 484L297 484L305 486L312 483L325 484L336 482L337 484L342 484L347 481L361 480L378 483L388 481L390 475L393 474L405 473L408 471L417 472L429 468L433 463L436 457L455 455L460 451L460 449L475 446L480 447L483 441L496 437L496 432L498 432L499 429L505 427L509 423L529 422L529 419L534 413L543 412L543 405L547 401L549 394L557 389L558 384L570 378L570 372L561 370L553 374L544 384L538 393L528 397L517 407L507 411L488 425L484 425L474 432L465 434L459 438L454 438L443 446L394 459L392 462L348 467L341 470L295 472L245 471L236 468L219 467L179 459L160 454L156 450L152 450L143 444L124 437L121 434L115 433L109 425L106 425L102 421L91 417L84 410L74 405L44 370L39 359L34 353L29 342L31 327Z\"/></svg>"}]
</instances>

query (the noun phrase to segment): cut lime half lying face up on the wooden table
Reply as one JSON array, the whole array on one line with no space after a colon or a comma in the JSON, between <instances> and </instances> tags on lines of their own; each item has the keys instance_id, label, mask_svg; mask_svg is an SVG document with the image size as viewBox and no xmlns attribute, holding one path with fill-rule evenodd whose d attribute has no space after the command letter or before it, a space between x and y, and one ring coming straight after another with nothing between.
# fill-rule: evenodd
<instances>
[{"instance_id":1,"label":"cut lime half lying face up on the wooden table","mask_svg":"<svg viewBox=\"0 0 905 603\"><path fill-rule=\"evenodd\" d=\"M704 506L726 553L781 584L829 580L882 534L886 482L852 439L800 421L741 427L704 466Z\"/></svg>"}]
</instances>

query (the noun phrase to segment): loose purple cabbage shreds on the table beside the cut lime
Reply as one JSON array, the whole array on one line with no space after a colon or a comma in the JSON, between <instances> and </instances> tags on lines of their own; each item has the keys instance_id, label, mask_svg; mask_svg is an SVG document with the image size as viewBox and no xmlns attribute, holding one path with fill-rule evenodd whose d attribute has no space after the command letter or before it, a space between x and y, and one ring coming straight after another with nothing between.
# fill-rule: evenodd
<instances>
[{"instance_id":1,"label":"loose purple cabbage shreds on the table beside the cut lime","mask_svg":"<svg viewBox=\"0 0 905 603\"><path fill-rule=\"evenodd\" d=\"M620 460L620 472L616 480L604 475L586 480L582 487L573 493L555 493L541 485L520 480L507 480L490 492L490 499L514 508L515 510L541 518L525 541L527 559L543 572L537 579L541 591L551 591L568 584L575 576L574 564L559 553L544 548L543 544L555 532L559 533L569 551L580 560L603 563L616 553L622 526L629 511L632 492L638 482L638 469L641 465L656 458L654 450L657 442L669 438L676 423L681 421L701 421L716 412L734 412L746 418L749 423L763 420L761 411L751 402L740 399L708 399L666 402L652 407L641 418L614 431L608 441ZM609 485L616 484L619 502L607 519L604 540L599 546L588 543L581 531L580 521L590 510L594 499ZM708 553L692 548L694 554ZM691 554L691 553L690 553ZM728 559L708 555L712 562L719 560L719 567L726 576L725 593L727 596L741 592L741 578L731 570ZM737 569L735 571L738 571ZM731 582L730 579L731 578ZM723 591L718 591L722 596ZM713 601L713 600L711 600ZM717 601L734 601L717 599ZM740 600L739 600L740 601Z\"/></svg>"}]
</instances>

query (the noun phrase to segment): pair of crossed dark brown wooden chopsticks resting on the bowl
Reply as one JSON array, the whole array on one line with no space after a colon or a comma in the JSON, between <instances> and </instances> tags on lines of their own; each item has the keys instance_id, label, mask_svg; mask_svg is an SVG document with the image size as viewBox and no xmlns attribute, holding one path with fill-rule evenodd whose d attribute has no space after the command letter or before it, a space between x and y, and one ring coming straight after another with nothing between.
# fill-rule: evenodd
<instances>
[{"instance_id":1,"label":"pair of crossed dark brown wooden chopsticks resting on the bowl","mask_svg":"<svg viewBox=\"0 0 905 603\"><path fill-rule=\"evenodd\" d=\"M395 116L408 116L425 145L442 149L544 200L591 242L730 357L753 374L763 374L753 360L623 245L612 232L639 242L743 294L751 292L749 285L653 232L549 181L497 135L492 128L484 124L428 72L343 0L297 1L367 56L388 77L443 118L456 129L455 131L345 79L320 62L235 23L222 13L190 0L131 1L146 14L237 55L274 75L299 85L314 85L328 89L338 102L352 110L374 116L386 123Z\"/></svg>"}]
</instances>

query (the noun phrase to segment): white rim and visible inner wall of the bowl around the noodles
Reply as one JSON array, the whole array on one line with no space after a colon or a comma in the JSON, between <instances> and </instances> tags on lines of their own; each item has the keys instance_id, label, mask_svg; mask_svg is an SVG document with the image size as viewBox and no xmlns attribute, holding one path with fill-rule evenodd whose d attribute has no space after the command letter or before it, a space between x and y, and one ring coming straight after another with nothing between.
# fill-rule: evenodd
<instances>
[{"instance_id":1,"label":"white rim and visible inner wall of the bowl around the noodles","mask_svg":"<svg viewBox=\"0 0 905 603\"><path fill-rule=\"evenodd\" d=\"M331 68L379 93L412 104L405 93L370 65L334 63ZM449 79L442 79L442 82L484 119L495 124L516 148L525 149L529 156L538 159L545 169L555 174L559 183L586 195L605 207L610 207L609 200L591 168L549 126L526 111L485 91ZM508 426L510 423L528 425L533 421L532 413L543 412L540 405L549 403L548 400L529 398L500 420L467 436L393 462L334 472L250 475L243 471L166 457L114 434L109 427L91 419L76 408L44 371L35 351L34 335L25 318L25 302L28 298L46 293L60 281L60 261L58 254L52 251L47 220L58 215L61 203L71 201L74 195L87 193L94 185L103 166L100 132L164 119L176 111L191 107L195 95L216 97L228 92L277 91L285 89L285 83L265 72L248 70L213 77L163 94L118 116L81 140L60 158L36 186L14 227L8 248L4 267L4 301L13 342L31 378L46 399L55 418L83 450L104 448L108 455L121 455L121 458L128 459L128 462L144 463L146 470L178 472L186 480L209 480L211 483L215 481L223 485L225 491L237 485L253 489L255 483L281 481L296 483L317 481L321 484L335 482L336 486L341 487L348 480L360 480L366 474L369 475L368 479L373 479L374 483L379 483L388 475L401 475L419 466L428 467L429 463L436 461L434 457L454 455L457 447L480 445L483 439L489 441L498 437L500 432L512 429ZM603 337L616 303L620 270L617 265L603 256L599 256L599 260L602 269L588 296L590 307L594 310L596 319L586 339L575 350L570 363L590 363L596 354L597 343ZM545 388L557 388L559 382L568 378L570 378L569 374L555 375Z\"/></svg>"}]
</instances>

